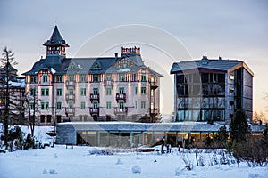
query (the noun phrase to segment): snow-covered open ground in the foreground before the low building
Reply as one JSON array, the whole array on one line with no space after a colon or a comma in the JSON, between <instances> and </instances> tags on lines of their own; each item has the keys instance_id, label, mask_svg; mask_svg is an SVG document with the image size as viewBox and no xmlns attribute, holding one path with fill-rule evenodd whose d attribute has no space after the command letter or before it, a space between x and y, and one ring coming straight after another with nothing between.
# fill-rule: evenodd
<instances>
[{"instance_id":1,"label":"snow-covered open ground in the foreground before the low building","mask_svg":"<svg viewBox=\"0 0 268 178\"><path fill-rule=\"evenodd\" d=\"M200 153L205 166L196 166L194 153L186 154L194 165L193 170L188 171L184 169L182 153L176 149L168 155L128 152L113 156L91 155L89 150L93 148L74 146L66 149L56 145L55 148L1 153L0 177L268 177L267 166L252 168L247 163L241 163L239 168L236 164L209 166L212 153ZM133 173L133 168L137 173Z\"/></svg>"}]
</instances>

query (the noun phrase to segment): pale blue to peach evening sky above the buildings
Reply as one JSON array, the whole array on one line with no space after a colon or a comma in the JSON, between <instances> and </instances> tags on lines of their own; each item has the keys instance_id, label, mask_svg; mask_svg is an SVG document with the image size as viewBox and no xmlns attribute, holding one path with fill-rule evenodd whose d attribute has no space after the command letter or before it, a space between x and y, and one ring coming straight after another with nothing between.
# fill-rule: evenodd
<instances>
[{"instance_id":1,"label":"pale blue to peach evening sky above the buildings","mask_svg":"<svg viewBox=\"0 0 268 178\"><path fill-rule=\"evenodd\" d=\"M267 9L266 0L2 0L0 48L7 46L13 50L19 62L16 68L21 74L45 56L46 49L42 44L51 36L54 25L58 25L71 46L67 51L69 57L78 56L82 44L106 29L130 24L155 27L179 40L192 59L206 55L211 59L221 56L222 59L246 61L255 73L254 110L265 111L268 106L268 101L264 101L264 93L268 93ZM170 45L165 47L172 48L172 43ZM105 50L105 55L110 56L121 53L119 46ZM173 61L188 59L182 59L184 55L181 55L180 59L159 60L167 56L146 46L142 47L141 53L146 64L152 64L152 68L169 77L163 80L162 105L163 113L170 113L173 85L168 72ZM82 55L89 57L96 53L88 50Z\"/></svg>"}]
</instances>

